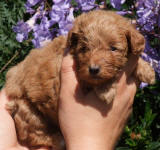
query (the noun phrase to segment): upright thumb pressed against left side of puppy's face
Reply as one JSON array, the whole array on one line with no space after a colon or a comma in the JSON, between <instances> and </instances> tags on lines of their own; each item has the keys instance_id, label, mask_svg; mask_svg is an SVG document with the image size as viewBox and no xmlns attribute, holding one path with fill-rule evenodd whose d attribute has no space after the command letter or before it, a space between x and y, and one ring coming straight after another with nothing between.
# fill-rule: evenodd
<instances>
[{"instance_id":1,"label":"upright thumb pressed against left side of puppy's face","mask_svg":"<svg viewBox=\"0 0 160 150\"><path fill-rule=\"evenodd\" d=\"M61 88L67 90L75 90L78 81L75 74L75 63L71 55L63 58L61 66Z\"/></svg>"}]
</instances>

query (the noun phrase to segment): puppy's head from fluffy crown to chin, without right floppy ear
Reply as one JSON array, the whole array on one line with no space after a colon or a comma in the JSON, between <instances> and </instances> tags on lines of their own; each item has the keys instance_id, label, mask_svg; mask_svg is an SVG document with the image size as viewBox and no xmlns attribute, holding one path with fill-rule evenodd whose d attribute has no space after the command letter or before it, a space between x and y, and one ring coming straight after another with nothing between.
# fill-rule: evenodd
<instances>
[{"instance_id":1,"label":"puppy's head from fluffy crown to chin, without right floppy ear","mask_svg":"<svg viewBox=\"0 0 160 150\"><path fill-rule=\"evenodd\" d=\"M102 12L104 16L101 11L80 16L69 34L77 76L92 85L115 77L126 64L128 53L133 48L129 32L122 28L128 22L118 15Z\"/></svg>"}]
</instances>

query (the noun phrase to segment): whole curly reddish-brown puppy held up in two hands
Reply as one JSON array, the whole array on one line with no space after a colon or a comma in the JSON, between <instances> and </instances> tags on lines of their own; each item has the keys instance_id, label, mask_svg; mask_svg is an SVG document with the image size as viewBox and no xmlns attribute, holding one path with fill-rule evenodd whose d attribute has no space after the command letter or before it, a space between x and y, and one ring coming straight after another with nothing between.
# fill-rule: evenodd
<instances>
[{"instance_id":1,"label":"whole curly reddish-brown puppy held up in two hands","mask_svg":"<svg viewBox=\"0 0 160 150\"><path fill-rule=\"evenodd\" d=\"M117 74L129 54L140 56L144 47L144 37L127 19L111 11L96 10L77 17L67 37L60 36L46 47L32 50L6 76L5 90L10 98L6 107L15 121L19 142L30 149L63 149L57 103L66 49L76 62L81 87L93 89L109 104L116 94ZM154 70L141 58L134 75L149 84L155 81Z\"/></svg>"}]
</instances>

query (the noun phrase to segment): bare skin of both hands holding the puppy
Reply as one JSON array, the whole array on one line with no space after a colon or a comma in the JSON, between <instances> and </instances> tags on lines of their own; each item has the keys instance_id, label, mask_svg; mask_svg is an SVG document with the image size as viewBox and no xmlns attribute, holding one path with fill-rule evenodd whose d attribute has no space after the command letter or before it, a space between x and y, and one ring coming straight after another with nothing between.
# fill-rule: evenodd
<instances>
[{"instance_id":1,"label":"bare skin of both hands holding the puppy","mask_svg":"<svg viewBox=\"0 0 160 150\"><path fill-rule=\"evenodd\" d=\"M114 149L132 112L136 93L137 82L131 73L136 66L137 57L132 55L129 60L129 67L124 68L119 78L116 97L107 106L92 92L83 95L76 79L73 59L69 55L64 57L59 123L68 150ZM28 150L17 141L14 121L5 109L8 100L4 89L0 93L0 149Z\"/></svg>"}]
</instances>

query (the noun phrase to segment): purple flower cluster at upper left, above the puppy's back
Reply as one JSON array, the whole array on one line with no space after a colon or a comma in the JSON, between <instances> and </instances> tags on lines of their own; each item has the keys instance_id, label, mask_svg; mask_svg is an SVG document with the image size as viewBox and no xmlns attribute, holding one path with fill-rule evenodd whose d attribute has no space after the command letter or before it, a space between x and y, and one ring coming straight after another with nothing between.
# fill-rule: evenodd
<instances>
[{"instance_id":1,"label":"purple flower cluster at upper left, above the puppy's back","mask_svg":"<svg viewBox=\"0 0 160 150\"><path fill-rule=\"evenodd\" d=\"M68 33L74 21L74 13L98 7L95 0L75 0L72 3L71 0L53 0L52 4L47 0L27 0L26 13L31 18L26 22L21 20L13 27L17 41L23 42L31 33L34 46L41 47L55 36Z\"/></svg>"}]
</instances>

